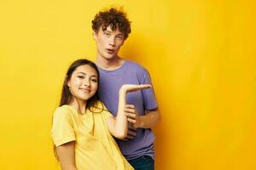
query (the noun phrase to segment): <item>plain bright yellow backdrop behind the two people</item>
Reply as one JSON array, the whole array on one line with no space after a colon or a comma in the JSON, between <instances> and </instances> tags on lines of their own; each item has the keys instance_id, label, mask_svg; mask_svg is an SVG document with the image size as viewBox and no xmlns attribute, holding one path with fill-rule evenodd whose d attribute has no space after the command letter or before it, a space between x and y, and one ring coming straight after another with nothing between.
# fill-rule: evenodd
<instances>
[{"instance_id":1,"label":"plain bright yellow backdrop behind the two people","mask_svg":"<svg viewBox=\"0 0 256 170\"><path fill-rule=\"evenodd\" d=\"M230 1L0 3L0 169L58 169L49 136L67 66L95 59L90 22L121 5L120 55L151 73L162 113L157 170L256 169L256 4Z\"/></svg>"}]
</instances>

